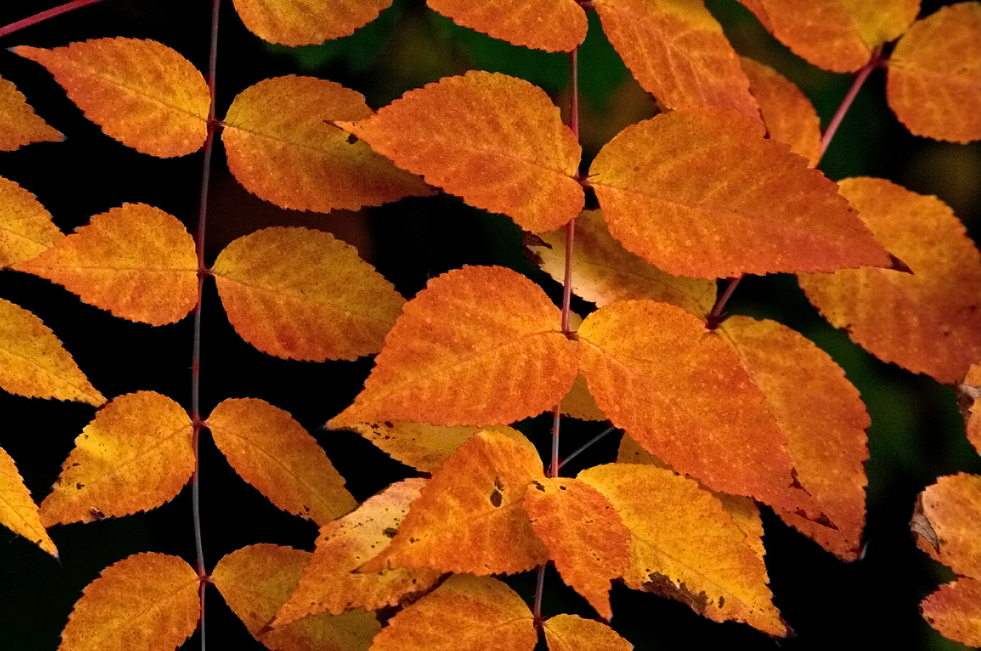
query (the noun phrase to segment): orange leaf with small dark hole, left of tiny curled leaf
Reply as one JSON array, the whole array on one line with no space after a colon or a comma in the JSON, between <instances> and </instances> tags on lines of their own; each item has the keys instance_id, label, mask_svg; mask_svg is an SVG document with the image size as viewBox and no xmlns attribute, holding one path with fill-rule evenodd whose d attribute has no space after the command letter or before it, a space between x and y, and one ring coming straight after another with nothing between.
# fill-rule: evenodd
<instances>
[{"instance_id":1,"label":"orange leaf with small dark hole, left of tiny curled leaf","mask_svg":"<svg viewBox=\"0 0 981 651\"><path fill-rule=\"evenodd\" d=\"M538 453L482 431L439 467L391 544L363 570L498 574L542 565L547 552L522 508L525 489L542 478Z\"/></svg>"}]
</instances>

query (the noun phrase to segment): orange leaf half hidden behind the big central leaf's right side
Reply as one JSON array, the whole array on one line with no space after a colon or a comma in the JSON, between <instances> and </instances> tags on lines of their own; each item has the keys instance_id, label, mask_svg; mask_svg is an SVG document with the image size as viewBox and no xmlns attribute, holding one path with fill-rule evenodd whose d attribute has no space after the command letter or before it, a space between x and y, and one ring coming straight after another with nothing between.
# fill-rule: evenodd
<instances>
[{"instance_id":1,"label":"orange leaf half hidden behind the big central leaf's right side","mask_svg":"<svg viewBox=\"0 0 981 651\"><path fill-rule=\"evenodd\" d=\"M838 528L782 510L777 515L839 558L856 560L865 525L870 424L858 391L827 353L776 321L734 316L719 333L777 419L796 478Z\"/></svg>"}]
</instances>

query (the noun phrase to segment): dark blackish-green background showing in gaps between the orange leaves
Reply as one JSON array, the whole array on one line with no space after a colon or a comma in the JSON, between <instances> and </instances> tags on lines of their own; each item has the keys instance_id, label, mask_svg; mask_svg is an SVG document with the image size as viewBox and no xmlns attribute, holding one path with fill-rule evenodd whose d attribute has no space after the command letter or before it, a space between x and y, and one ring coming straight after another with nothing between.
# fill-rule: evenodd
<instances>
[{"instance_id":1,"label":"dark blackish-green background showing in gaps between the orange leaves","mask_svg":"<svg viewBox=\"0 0 981 651\"><path fill-rule=\"evenodd\" d=\"M54 4L6 2L0 25ZM713 0L710 9L737 49L777 68L808 94L827 124L851 83L803 63L761 30L735 0ZM925 2L921 15L946 3ZM177 49L207 70L210 2L205 0L106 0L3 39L4 48L29 44L54 47L103 36L152 38ZM584 168L603 142L623 127L649 117L653 105L591 17L580 54L583 97ZM541 85L559 106L568 102L564 55L515 47L454 26L422 0L396 0L393 7L353 36L324 46L289 49L264 43L223 3L218 58L218 115L246 86L285 74L305 74L355 88L379 108L409 88L469 69L524 77ZM41 67L0 50L0 75L15 82L38 114L68 136L0 152L0 176L38 199L65 231L93 214L127 201L158 206L193 231L200 191L200 153L179 159L138 154L102 135L66 98ZM981 147L910 136L884 100L885 74L878 71L859 95L821 169L838 180L870 175L947 201L977 242L981 230ZM564 109L563 109L564 110ZM406 199L360 212L329 215L287 211L242 190L230 176L221 144L216 146L208 207L207 261L234 238L271 225L309 226L334 233L358 247L406 297L426 281L463 264L504 264L542 284L553 297L558 285L521 254L521 235L507 218L470 208L459 199ZM190 389L191 319L152 328L115 318L81 303L46 281L5 271L0 296L33 311L62 339L78 365L107 398L139 390L159 391L187 407ZM680 603L633 592L612 591L613 625L636 648L962 648L923 623L918 602L950 577L948 570L917 551L908 533L916 494L942 474L981 472L981 458L963 436L951 389L884 364L828 326L803 298L793 277L751 278L739 289L732 311L768 316L811 337L832 353L861 391L872 415L871 459L867 463L867 554L844 564L784 526L765 509L767 567L774 601L797 636L772 640L745 624L715 624ZM580 305L585 308L585 305ZM580 311L583 311L582 309ZM202 411L225 398L256 397L291 412L327 449L355 497L363 500L411 468L346 432L319 426L346 407L371 369L356 362L307 363L259 353L232 331L213 284L206 284L202 358ZM815 396L814 400L821 397ZM58 475L91 407L0 395L0 446L13 456L39 502ZM563 454L602 429L600 423L566 421ZM545 419L522 429L542 450ZM617 437L583 455L583 465L611 461ZM311 549L316 527L285 515L234 474L202 437L202 518L209 568L248 544L274 542ZM57 526L51 535L61 564L25 539L0 529L0 649L50 651L81 589L105 567L137 552L176 554L193 564L190 491L147 514L91 524ZM531 599L532 573L507 579ZM545 613L594 613L550 570ZM262 648L233 618L216 590L207 604L208 637L224 647ZM196 648L198 636L186 648Z\"/></svg>"}]
</instances>

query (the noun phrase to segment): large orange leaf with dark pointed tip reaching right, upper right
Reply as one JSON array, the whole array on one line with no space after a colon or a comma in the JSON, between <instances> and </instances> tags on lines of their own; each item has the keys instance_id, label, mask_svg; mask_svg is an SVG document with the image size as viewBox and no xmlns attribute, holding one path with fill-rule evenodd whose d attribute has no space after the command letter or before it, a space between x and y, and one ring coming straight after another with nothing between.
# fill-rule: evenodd
<instances>
[{"instance_id":1,"label":"large orange leaf with dark pointed tip reaching right, upper right","mask_svg":"<svg viewBox=\"0 0 981 651\"><path fill-rule=\"evenodd\" d=\"M664 271L697 278L888 266L835 185L762 136L717 111L628 127L590 168L610 233Z\"/></svg>"}]
</instances>

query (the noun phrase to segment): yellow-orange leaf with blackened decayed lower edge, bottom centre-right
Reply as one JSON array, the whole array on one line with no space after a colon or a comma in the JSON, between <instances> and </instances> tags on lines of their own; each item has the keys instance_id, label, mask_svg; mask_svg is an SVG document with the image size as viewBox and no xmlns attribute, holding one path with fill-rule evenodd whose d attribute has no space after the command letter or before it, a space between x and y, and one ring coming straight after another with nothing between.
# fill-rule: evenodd
<instances>
[{"instance_id":1,"label":"yellow-orange leaf with blackened decayed lower edge, bottom centre-right","mask_svg":"<svg viewBox=\"0 0 981 651\"><path fill-rule=\"evenodd\" d=\"M602 493L630 529L630 565L623 576L628 587L677 599L715 622L788 634L762 559L695 480L628 463L587 468L579 478Z\"/></svg>"}]
</instances>

